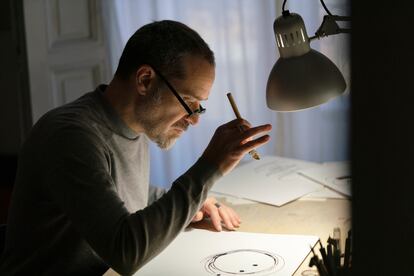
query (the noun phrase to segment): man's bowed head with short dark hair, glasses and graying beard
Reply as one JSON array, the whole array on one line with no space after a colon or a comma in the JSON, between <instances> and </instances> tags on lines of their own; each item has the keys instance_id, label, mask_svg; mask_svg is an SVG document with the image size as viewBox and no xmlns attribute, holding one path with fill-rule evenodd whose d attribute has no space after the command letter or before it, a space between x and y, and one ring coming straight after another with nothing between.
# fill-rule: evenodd
<instances>
[{"instance_id":1,"label":"man's bowed head with short dark hair, glasses and graying beard","mask_svg":"<svg viewBox=\"0 0 414 276\"><path fill-rule=\"evenodd\" d=\"M194 30L165 20L132 35L115 76L133 84L140 128L161 148L169 148L189 124L197 123L198 114L188 116L183 105L194 111L208 98L214 66L213 52Z\"/></svg>"}]
</instances>

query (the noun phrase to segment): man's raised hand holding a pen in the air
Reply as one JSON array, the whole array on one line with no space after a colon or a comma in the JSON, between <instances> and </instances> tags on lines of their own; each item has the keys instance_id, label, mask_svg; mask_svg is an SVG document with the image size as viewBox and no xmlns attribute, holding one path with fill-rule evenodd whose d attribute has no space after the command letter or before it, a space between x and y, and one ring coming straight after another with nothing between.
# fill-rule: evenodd
<instances>
[{"instance_id":1,"label":"man's raised hand holding a pen in the air","mask_svg":"<svg viewBox=\"0 0 414 276\"><path fill-rule=\"evenodd\" d=\"M251 127L246 120L235 119L217 128L202 158L216 164L225 175L240 162L246 153L266 144L270 140L269 135L256 139L253 137L271 129L270 124Z\"/></svg>"}]
</instances>

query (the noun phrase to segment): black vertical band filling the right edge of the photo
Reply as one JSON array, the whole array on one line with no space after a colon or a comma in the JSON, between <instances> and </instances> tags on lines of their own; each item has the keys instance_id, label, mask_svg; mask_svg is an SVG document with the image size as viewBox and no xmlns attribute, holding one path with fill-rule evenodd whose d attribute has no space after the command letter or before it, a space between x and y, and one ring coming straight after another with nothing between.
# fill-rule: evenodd
<instances>
[{"instance_id":1,"label":"black vertical band filling the right edge of the photo","mask_svg":"<svg viewBox=\"0 0 414 276\"><path fill-rule=\"evenodd\" d=\"M357 275L414 275L413 18L409 1L352 2Z\"/></svg>"}]
</instances>

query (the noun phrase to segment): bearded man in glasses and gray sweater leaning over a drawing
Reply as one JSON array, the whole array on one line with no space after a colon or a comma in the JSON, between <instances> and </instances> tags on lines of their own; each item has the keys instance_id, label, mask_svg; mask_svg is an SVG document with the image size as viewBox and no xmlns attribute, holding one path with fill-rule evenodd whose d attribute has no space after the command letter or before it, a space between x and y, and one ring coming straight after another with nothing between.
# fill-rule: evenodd
<instances>
[{"instance_id":1,"label":"bearded man in glasses and gray sweater leaning over a drawing","mask_svg":"<svg viewBox=\"0 0 414 276\"><path fill-rule=\"evenodd\" d=\"M56 108L33 127L19 159L0 274L133 274L191 221L234 229L234 211L206 200L213 183L270 125L220 126L168 192L149 187L147 138L161 148L199 120L214 81L214 56L174 21L140 28L108 86ZM240 126L249 128L240 132ZM157 169L157 168L153 168ZM160 172L162 173L162 172Z\"/></svg>"}]
</instances>

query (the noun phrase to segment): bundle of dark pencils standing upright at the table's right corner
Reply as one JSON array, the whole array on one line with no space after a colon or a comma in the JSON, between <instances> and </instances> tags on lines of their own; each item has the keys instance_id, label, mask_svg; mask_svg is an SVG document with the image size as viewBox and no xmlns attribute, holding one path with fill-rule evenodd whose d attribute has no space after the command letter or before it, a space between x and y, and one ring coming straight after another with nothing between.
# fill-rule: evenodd
<instances>
[{"instance_id":1,"label":"bundle of dark pencils standing upright at the table's right corner","mask_svg":"<svg viewBox=\"0 0 414 276\"><path fill-rule=\"evenodd\" d=\"M328 238L328 245L323 247L319 240L319 252L322 259L319 258L313 248L311 248L313 257L309 262L309 266L316 266L320 276L348 276L352 275L352 237L351 230L348 231L348 236L345 240L345 252L342 253L340 249L339 238Z\"/></svg>"}]
</instances>

